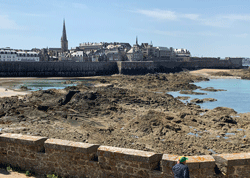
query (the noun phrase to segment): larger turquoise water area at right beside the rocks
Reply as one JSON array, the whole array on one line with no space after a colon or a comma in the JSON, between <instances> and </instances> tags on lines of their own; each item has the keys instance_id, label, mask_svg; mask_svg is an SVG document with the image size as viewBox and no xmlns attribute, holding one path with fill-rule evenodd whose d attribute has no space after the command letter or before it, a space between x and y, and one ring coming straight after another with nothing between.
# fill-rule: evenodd
<instances>
[{"instance_id":1,"label":"larger turquoise water area at right beside the rocks","mask_svg":"<svg viewBox=\"0 0 250 178\"><path fill-rule=\"evenodd\" d=\"M199 104L202 108L214 109L219 106L233 108L238 113L250 112L250 80L241 79L211 79L194 83L202 88L214 87L215 89L224 89L227 91L209 92L200 89L197 92L207 93L207 95L186 95L179 92L168 92L168 94L177 96L189 96L190 100L194 98L215 98L215 102ZM184 101L185 102L185 101Z\"/></svg>"}]
</instances>

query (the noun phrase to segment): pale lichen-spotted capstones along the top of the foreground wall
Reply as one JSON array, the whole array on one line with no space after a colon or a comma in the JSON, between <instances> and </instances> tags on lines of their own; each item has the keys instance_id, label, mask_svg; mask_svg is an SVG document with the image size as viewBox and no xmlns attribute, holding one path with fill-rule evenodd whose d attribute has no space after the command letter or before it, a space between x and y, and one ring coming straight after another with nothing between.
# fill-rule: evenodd
<instances>
[{"instance_id":1,"label":"pale lichen-spotted capstones along the top of the foreground wall","mask_svg":"<svg viewBox=\"0 0 250 178\"><path fill-rule=\"evenodd\" d=\"M42 146L45 149L58 149L69 152L81 152L85 154L98 153L99 156L121 158L130 161L139 162L154 162L162 160L162 162L176 162L178 155L171 154L157 154L154 152L147 152L141 150L134 150L128 148L119 148L111 146L100 146L97 144L73 142L60 139L48 139L46 137L29 136L21 134L3 133L0 135L0 142L13 144L26 144L32 146ZM117 156L117 157L116 157ZM250 153L227 153L216 155L201 155L201 156L187 156L187 163L213 163L216 162L214 158L221 158L224 161L248 161L250 160Z\"/></svg>"}]
</instances>

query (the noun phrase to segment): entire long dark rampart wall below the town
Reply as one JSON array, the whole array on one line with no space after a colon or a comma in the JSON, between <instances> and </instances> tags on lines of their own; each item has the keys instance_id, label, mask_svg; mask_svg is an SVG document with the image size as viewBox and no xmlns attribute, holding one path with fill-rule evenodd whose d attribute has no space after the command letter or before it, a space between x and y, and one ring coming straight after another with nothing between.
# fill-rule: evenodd
<instances>
[{"instance_id":1,"label":"entire long dark rampart wall below the town","mask_svg":"<svg viewBox=\"0 0 250 178\"><path fill-rule=\"evenodd\" d=\"M0 77L79 77L178 72L183 69L241 68L239 59L195 58L190 61L0 62Z\"/></svg>"}]
</instances>

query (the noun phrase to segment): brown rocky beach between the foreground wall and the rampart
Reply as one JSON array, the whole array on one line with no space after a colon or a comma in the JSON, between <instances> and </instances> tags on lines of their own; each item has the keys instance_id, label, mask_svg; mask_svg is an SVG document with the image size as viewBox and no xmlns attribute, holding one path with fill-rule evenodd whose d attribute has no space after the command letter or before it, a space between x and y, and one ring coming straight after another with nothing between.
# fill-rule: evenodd
<instances>
[{"instance_id":1,"label":"brown rocky beach between the foreground wall and the rampart","mask_svg":"<svg viewBox=\"0 0 250 178\"><path fill-rule=\"evenodd\" d=\"M249 76L247 69L206 69L85 78L91 85L0 98L0 130L177 155L249 152L249 113L202 109L196 103L215 100L189 103L166 93L197 95L193 82Z\"/></svg>"}]
</instances>

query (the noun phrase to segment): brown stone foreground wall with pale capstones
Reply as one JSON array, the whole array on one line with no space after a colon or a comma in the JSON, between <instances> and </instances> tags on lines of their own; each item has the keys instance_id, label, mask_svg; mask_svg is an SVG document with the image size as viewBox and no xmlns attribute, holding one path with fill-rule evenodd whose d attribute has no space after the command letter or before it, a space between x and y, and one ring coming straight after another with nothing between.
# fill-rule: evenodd
<instances>
[{"instance_id":1,"label":"brown stone foreground wall with pale capstones","mask_svg":"<svg viewBox=\"0 0 250 178\"><path fill-rule=\"evenodd\" d=\"M4 133L0 163L63 177L172 178L178 156ZM191 178L250 177L250 153L189 156ZM217 165L223 171L218 170Z\"/></svg>"}]
</instances>

